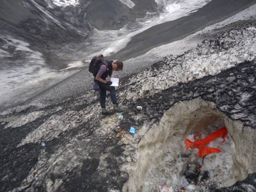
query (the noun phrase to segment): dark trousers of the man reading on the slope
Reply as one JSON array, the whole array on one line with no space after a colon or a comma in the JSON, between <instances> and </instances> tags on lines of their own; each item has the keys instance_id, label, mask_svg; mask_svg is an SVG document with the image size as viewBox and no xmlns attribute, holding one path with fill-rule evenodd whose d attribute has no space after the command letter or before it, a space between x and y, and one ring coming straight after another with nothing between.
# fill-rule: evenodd
<instances>
[{"instance_id":1,"label":"dark trousers of the man reading on the slope","mask_svg":"<svg viewBox=\"0 0 256 192\"><path fill-rule=\"evenodd\" d=\"M100 88L100 106L105 107L106 106L106 95L107 91L110 92L110 98L112 100L112 103L117 103L116 98L116 89L114 86L109 86L104 83L98 82L99 88Z\"/></svg>"}]
</instances>

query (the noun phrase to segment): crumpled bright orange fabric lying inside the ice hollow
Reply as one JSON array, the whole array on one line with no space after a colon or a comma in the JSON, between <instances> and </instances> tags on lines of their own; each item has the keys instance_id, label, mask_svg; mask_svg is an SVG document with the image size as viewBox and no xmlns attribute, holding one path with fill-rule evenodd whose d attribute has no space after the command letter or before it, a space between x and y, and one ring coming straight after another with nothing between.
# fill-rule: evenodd
<instances>
[{"instance_id":1,"label":"crumpled bright orange fabric lying inside the ice hollow","mask_svg":"<svg viewBox=\"0 0 256 192\"><path fill-rule=\"evenodd\" d=\"M202 134L200 134L202 136ZM200 136L199 135L199 136ZM195 140L194 142L190 141L189 139L186 139L186 150L188 150L190 147L192 147L193 149L195 148L199 148L198 151L198 156L200 157L204 157L208 154L211 153L218 153L218 152L222 152L220 149L218 148L212 148L212 147L206 147L205 145L209 144L210 142L216 140L218 137L222 137L223 141L225 142L225 137L228 135L228 130L226 127L222 127L219 130L213 132L212 134L208 135L207 137L205 137L202 140ZM197 136L195 136L194 138L196 138Z\"/></svg>"}]
</instances>

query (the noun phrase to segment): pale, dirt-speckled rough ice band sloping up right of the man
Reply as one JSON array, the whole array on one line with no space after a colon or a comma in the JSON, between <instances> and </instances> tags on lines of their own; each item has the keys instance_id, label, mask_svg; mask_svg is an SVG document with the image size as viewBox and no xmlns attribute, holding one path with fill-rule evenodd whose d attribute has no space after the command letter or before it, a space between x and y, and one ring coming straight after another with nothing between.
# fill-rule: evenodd
<instances>
[{"instance_id":1,"label":"pale, dirt-speckled rough ice band sloping up right of the man","mask_svg":"<svg viewBox=\"0 0 256 192\"><path fill-rule=\"evenodd\" d=\"M166 56L150 70L141 70L130 80L129 86L136 89L129 94L124 93L125 99L136 100L149 90L156 93L178 83L216 75L244 61L255 60L255 35L255 26L247 26L204 40L197 48L182 55Z\"/></svg>"}]
</instances>

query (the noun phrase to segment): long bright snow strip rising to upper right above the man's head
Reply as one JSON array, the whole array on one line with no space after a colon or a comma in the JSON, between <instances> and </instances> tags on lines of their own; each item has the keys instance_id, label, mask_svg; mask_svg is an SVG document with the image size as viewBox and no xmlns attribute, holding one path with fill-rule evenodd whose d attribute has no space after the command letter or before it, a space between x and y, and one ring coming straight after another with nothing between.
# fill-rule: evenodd
<instances>
[{"instance_id":1,"label":"long bright snow strip rising to upper right above the man's head","mask_svg":"<svg viewBox=\"0 0 256 192\"><path fill-rule=\"evenodd\" d=\"M100 53L105 56L114 54L124 48L136 34L152 26L189 15L192 11L197 11L208 2L209 0L165 1L165 8L160 10L160 12L147 13L144 18L138 18L120 30L94 29L94 35L90 40L93 44L88 45L90 49L86 50L86 54L84 52L78 52L78 55L84 55L84 58L89 59ZM114 42L113 39L115 40Z\"/></svg>"}]
</instances>

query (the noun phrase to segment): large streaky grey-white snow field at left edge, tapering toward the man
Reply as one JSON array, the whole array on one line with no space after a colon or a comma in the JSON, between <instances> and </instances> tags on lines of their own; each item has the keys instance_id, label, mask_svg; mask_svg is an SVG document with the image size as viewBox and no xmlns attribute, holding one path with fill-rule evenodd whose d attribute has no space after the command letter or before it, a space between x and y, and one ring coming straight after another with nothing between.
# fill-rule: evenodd
<instances>
[{"instance_id":1,"label":"large streaky grey-white snow field at left edge, tapering toward the man","mask_svg":"<svg viewBox=\"0 0 256 192\"><path fill-rule=\"evenodd\" d=\"M30 49L30 44L12 36L0 36L0 106L14 105L26 96L38 94L42 89L74 74L48 68L43 54ZM1 54L2 53L2 54ZM80 65L72 63L69 67Z\"/></svg>"}]
</instances>

